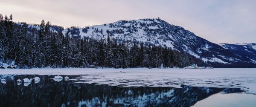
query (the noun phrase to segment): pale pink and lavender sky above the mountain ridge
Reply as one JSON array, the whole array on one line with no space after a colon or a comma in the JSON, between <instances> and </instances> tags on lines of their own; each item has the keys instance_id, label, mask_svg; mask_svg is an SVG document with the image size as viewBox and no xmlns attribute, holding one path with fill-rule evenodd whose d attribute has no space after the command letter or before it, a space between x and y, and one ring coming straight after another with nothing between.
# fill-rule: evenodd
<instances>
[{"instance_id":1,"label":"pale pink and lavender sky above the mountain ridge","mask_svg":"<svg viewBox=\"0 0 256 107\"><path fill-rule=\"evenodd\" d=\"M256 0L0 0L0 13L64 27L160 17L213 43L256 43Z\"/></svg>"}]
</instances>

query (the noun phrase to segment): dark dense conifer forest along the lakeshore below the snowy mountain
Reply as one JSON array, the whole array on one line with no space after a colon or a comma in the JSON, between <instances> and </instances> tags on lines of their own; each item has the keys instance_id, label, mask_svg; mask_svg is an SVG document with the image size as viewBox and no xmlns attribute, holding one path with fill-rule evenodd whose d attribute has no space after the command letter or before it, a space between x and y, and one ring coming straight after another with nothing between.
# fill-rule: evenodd
<instances>
[{"instance_id":1,"label":"dark dense conifer forest along the lakeshore below the snowy mountain","mask_svg":"<svg viewBox=\"0 0 256 107\"><path fill-rule=\"evenodd\" d=\"M31 26L38 26L31 27ZM55 32L53 32L53 30ZM107 35L93 39L63 34L63 27L41 21L40 25L14 23L12 15L0 15L0 62L19 68L44 67L185 67L203 61L176 50ZM84 30L84 29L83 29ZM86 29L85 29L86 30ZM1 66L1 65L0 65Z\"/></svg>"}]
</instances>

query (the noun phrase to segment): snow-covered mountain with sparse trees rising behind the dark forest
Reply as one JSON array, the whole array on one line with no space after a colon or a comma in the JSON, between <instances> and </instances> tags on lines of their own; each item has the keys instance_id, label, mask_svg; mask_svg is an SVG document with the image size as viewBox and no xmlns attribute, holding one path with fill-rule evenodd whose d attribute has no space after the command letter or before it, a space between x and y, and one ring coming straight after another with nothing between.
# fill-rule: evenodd
<instances>
[{"instance_id":1,"label":"snow-covered mountain with sparse trees rising behind the dark forest","mask_svg":"<svg viewBox=\"0 0 256 107\"><path fill-rule=\"evenodd\" d=\"M211 43L180 26L171 25L161 19L120 20L85 28L64 29L63 33L69 33L74 37L94 39L106 39L109 35L111 38L116 38L119 43L137 41L138 43L167 46L200 58L207 63L255 63L255 59L252 59L251 56L236 54L230 49ZM243 46L243 44L239 46ZM255 55L252 56L255 57Z\"/></svg>"}]
</instances>

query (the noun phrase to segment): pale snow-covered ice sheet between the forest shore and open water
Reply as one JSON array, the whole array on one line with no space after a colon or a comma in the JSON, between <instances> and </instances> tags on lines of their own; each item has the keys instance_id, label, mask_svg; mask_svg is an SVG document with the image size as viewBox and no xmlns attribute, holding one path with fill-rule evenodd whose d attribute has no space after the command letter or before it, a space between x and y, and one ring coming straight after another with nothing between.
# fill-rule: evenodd
<instances>
[{"instance_id":1,"label":"pale snow-covered ice sheet between the forest shore and open water","mask_svg":"<svg viewBox=\"0 0 256 107\"><path fill-rule=\"evenodd\" d=\"M0 75L79 75L74 83L96 83L119 87L194 87L241 88L256 94L256 69L0 69ZM3 76L4 77L4 76Z\"/></svg>"}]
</instances>

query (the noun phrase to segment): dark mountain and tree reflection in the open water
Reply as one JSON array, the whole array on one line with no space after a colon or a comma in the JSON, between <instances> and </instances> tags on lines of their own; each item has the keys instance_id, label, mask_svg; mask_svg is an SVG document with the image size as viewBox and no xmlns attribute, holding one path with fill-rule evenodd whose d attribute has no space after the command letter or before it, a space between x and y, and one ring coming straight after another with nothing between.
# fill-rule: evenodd
<instances>
[{"instance_id":1,"label":"dark mountain and tree reflection in the open water","mask_svg":"<svg viewBox=\"0 0 256 107\"><path fill-rule=\"evenodd\" d=\"M0 75L3 78L6 75ZM17 79L34 78L38 83L17 84ZM0 83L1 107L60 107L60 106L139 106L190 107L215 93L239 93L238 88L208 87L113 87L76 83L65 79L54 81L56 75L9 75ZM69 76L75 78L76 76ZM62 75L64 77L64 75Z\"/></svg>"}]
</instances>

